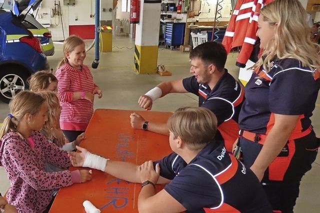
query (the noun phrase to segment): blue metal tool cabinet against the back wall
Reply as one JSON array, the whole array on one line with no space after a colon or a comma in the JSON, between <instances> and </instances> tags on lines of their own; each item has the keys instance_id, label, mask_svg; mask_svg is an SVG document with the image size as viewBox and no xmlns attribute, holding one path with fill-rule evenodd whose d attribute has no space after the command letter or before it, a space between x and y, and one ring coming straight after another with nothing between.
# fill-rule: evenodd
<instances>
[{"instance_id":1,"label":"blue metal tool cabinet against the back wall","mask_svg":"<svg viewBox=\"0 0 320 213\"><path fill-rule=\"evenodd\" d=\"M165 46L174 46L183 44L185 23L166 23L165 24Z\"/></svg>"}]
</instances>

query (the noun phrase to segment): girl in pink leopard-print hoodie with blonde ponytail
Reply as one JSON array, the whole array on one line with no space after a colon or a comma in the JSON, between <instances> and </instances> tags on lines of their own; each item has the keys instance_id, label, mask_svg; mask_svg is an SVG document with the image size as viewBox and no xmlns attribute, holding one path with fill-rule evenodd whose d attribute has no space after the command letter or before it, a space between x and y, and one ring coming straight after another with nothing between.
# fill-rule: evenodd
<instances>
[{"instance_id":1,"label":"girl in pink leopard-print hoodie with blonde ponytail","mask_svg":"<svg viewBox=\"0 0 320 213\"><path fill-rule=\"evenodd\" d=\"M49 208L52 189L86 182L91 175L86 170L44 172L45 162L63 168L71 165L67 153L39 132L48 120L44 98L22 91L9 109L0 130L0 166L10 181L6 198L19 212L42 213Z\"/></svg>"}]
</instances>

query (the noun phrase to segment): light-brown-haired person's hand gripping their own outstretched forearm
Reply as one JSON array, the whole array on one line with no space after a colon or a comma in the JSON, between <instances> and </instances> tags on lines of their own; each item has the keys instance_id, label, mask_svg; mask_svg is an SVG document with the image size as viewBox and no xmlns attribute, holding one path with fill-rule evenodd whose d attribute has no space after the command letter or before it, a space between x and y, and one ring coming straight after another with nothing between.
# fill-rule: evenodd
<instances>
[{"instance_id":1,"label":"light-brown-haired person's hand gripping their own outstretched forearm","mask_svg":"<svg viewBox=\"0 0 320 213\"><path fill-rule=\"evenodd\" d=\"M150 181L153 184L156 184L160 176L160 166L159 164L155 165L155 170L153 169L153 162L146 161L139 168L140 172L140 181L141 183L145 181Z\"/></svg>"}]
</instances>

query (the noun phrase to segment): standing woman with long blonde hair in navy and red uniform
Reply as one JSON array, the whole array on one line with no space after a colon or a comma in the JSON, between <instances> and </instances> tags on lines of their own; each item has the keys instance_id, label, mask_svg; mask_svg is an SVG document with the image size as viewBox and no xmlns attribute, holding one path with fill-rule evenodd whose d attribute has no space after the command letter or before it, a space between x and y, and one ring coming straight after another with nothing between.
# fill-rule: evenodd
<instances>
[{"instance_id":1,"label":"standing woman with long blonde hair in navy and red uniform","mask_svg":"<svg viewBox=\"0 0 320 213\"><path fill-rule=\"evenodd\" d=\"M262 53L245 87L239 144L273 211L293 212L319 146L310 120L320 87L319 48L298 0L265 5L256 35Z\"/></svg>"}]
</instances>

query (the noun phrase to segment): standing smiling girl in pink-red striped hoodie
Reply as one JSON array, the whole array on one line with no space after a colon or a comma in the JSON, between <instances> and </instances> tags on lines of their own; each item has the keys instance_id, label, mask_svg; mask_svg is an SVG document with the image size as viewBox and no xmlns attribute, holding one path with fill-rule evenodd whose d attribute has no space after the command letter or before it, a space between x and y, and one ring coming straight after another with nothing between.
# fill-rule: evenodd
<instances>
[{"instance_id":1,"label":"standing smiling girl in pink-red striped hoodie","mask_svg":"<svg viewBox=\"0 0 320 213\"><path fill-rule=\"evenodd\" d=\"M94 94L102 97L94 84L90 69L83 64L84 41L74 35L63 42L64 57L55 72L58 79L58 96L62 107L60 128L69 141L85 131L93 114Z\"/></svg>"}]
</instances>

